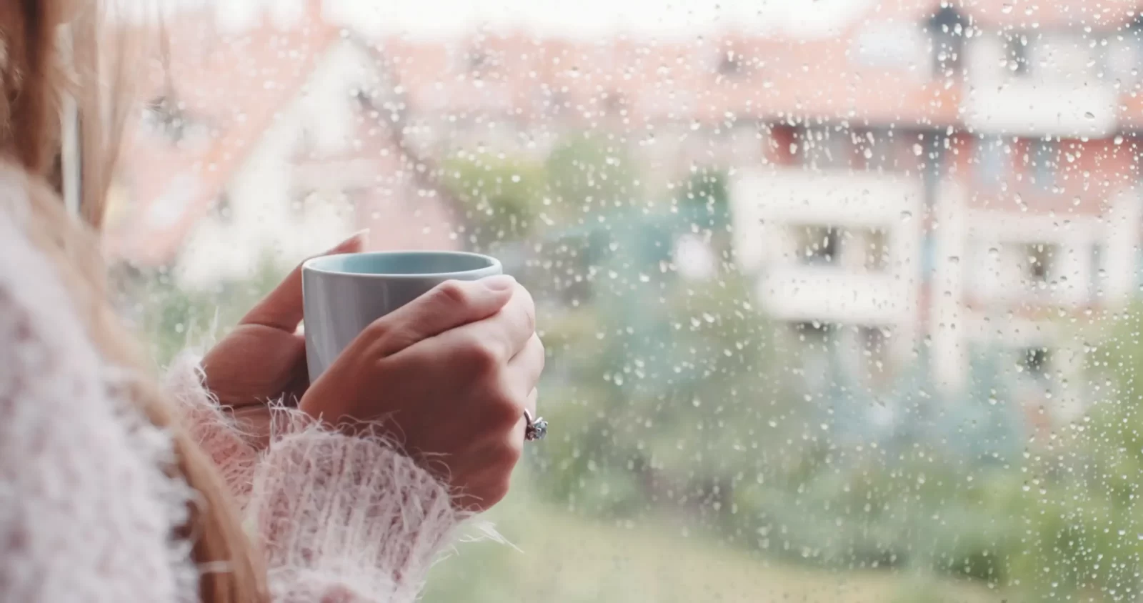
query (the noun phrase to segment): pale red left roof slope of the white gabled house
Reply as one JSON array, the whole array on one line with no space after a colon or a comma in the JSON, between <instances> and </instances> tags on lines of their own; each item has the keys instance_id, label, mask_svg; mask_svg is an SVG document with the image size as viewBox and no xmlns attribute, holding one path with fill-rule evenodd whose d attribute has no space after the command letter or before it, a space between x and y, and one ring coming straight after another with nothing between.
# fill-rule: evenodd
<instances>
[{"instance_id":1,"label":"pale red left roof slope of the white gabled house","mask_svg":"<svg viewBox=\"0 0 1143 603\"><path fill-rule=\"evenodd\" d=\"M112 252L141 263L169 259L241 167L278 113L296 98L339 27L320 3L298 26L265 18L241 33L219 31L207 14L167 25L169 61L151 62L142 99L177 106L201 136L174 144L136 121L122 158L130 198L138 203Z\"/></svg>"}]
</instances>

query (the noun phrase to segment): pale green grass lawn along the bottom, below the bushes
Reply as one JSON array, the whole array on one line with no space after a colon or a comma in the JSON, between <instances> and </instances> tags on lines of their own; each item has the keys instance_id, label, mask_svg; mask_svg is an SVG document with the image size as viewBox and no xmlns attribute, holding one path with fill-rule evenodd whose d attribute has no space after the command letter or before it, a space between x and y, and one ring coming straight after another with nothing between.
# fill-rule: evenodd
<instances>
[{"instance_id":1,"label":"pale green grass lawn along the bottom, below the bushes","mask_svg":"<svg viewBox=\"0 0 1143 603\"><path fill-rule=\"evenodd\" d=\"M681 528L607 525L536 505L495 518L519 550L461 545L429 603L993 603L986 587L888 571L830 571L751 556Z\"/></svg>"}]
</instances>

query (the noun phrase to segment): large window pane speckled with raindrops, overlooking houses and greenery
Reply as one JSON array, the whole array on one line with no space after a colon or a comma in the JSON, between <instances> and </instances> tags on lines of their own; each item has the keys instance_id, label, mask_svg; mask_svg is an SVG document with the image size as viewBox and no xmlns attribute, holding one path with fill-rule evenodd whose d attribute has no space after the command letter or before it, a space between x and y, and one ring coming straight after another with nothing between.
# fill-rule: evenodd
<instances>
[{"instance_id":1,"label":"large window pane speckled with raindrops, overlooking houses and greenery","mask_svg":"<svg viewBox=\"0 0 1143 603\"><path fill-rule=\"evenodd\" d=\"M361 228L535 298L511 546L424 601L1140 601L1143 7L169 5L105 228L160 364Z\"/></svg>"}]
</instances>

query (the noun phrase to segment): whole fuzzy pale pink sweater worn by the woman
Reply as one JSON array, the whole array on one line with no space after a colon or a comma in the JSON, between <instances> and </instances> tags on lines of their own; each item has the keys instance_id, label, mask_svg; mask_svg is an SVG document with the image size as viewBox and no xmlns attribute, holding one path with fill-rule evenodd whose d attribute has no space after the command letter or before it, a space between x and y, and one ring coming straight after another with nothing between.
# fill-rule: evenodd
<instances>
[{"instance_id":1,"label":"whole fuzzy pale pink sweater worn by the woman","mask_svg":"<svg viewBox=\"0 0 1143 603\"><path fill-rule=\"evenodd\" d=\"M0 191L0 194L10 191ZM131 378L85 333L50 263L0 199L0 601L198 600L174 536L195 493L160 469L168 434L120 394ZM18 200L15 202L18 209ZM9 206L10 208L10 206ZM282 411L259 451L202 387L168 389L263 541L277 603L406 602L461 517L446 488L379 439Z\"/></svg>"}]
</instances>

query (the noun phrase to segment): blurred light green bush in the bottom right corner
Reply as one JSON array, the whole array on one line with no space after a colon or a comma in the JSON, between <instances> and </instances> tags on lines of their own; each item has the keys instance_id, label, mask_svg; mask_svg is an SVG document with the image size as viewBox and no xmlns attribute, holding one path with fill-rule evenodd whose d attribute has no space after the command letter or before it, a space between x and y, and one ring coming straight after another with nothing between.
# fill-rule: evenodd
<instances>
[{"instance_id":1,"label":"blurred light green bush in the bottom right corner","mask_svg":"<svg viewBox=\"0 0 1143 603\"><path fill-rule=\"evenodd\" d=\"M1007 555L1008 577L1025 601L1140 596L1141 311L1101 317L1085 333L1094 407L1036 445L1018 489L1009 484L1007 510L1021 522Z\"/></svg>"}]
</instances>

